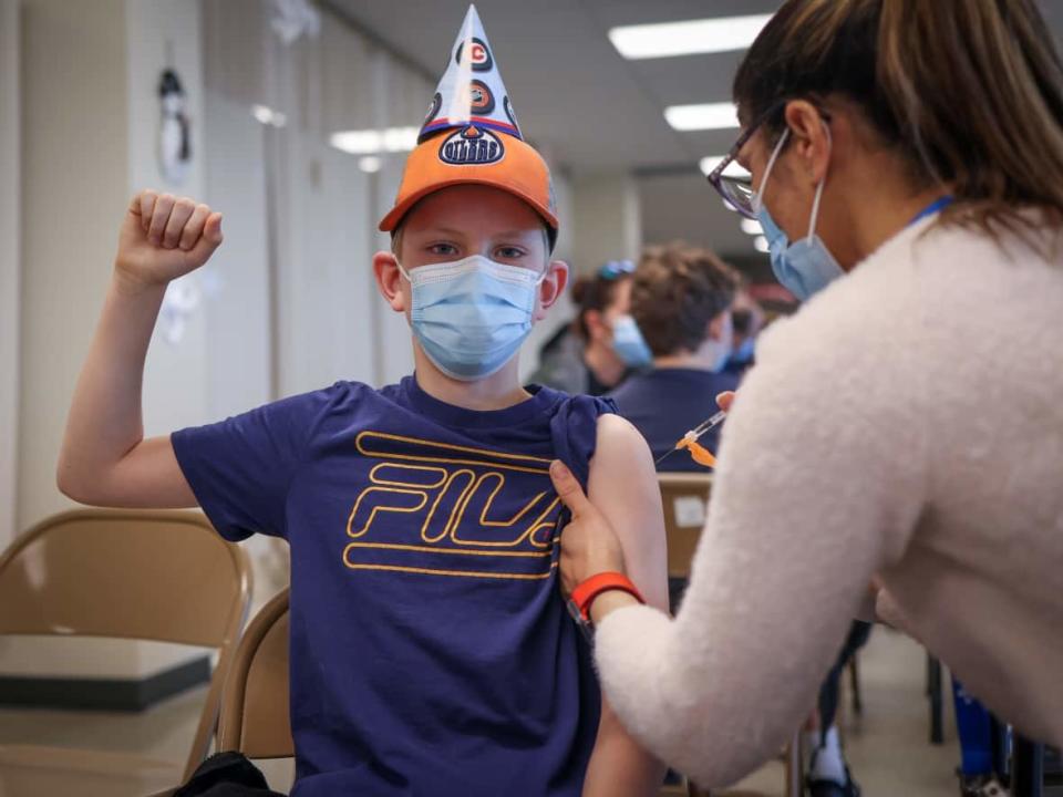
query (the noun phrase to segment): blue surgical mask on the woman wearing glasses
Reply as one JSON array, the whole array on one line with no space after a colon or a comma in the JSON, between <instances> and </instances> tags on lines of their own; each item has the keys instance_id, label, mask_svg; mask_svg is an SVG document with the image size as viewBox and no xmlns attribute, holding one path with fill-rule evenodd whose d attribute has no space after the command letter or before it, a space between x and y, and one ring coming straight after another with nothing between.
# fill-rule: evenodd
<instances>
[{"instance_id":1,"label":"blue surgical mask on the woman wearing glasses","mask_svg":"<svg viewBox=\"0 0 1063 797\"><path fill-rule=\"evenodd\" d=\"M830 130L827 130L827 139L830 138ZM819 180L816 188L816 198L812 204L812 217L808 220L808 236L794 244L789 242L786 234L780 229L778 225L772 218L761 201L764 196L764 186L767 185L767 178L772 173L772 167L778 158L778 154L786 143L786 136L789 135L787 127L775 145L771 159L767 162L767 168L764 170L764 179L761 182L761 189L757 192L755 206L757 216L761 219L761 226L764 228L764 237L767 239L768 251L772 258L772 271L775 278L801 301L805 301L816 291L823 290L826 286L842 277L845 271L834 259L834 255L827 249L826 245L816 235L816 219L819 216L819 199L823 197L823 186L826 177Z\"/></svg>"}]
</instances>

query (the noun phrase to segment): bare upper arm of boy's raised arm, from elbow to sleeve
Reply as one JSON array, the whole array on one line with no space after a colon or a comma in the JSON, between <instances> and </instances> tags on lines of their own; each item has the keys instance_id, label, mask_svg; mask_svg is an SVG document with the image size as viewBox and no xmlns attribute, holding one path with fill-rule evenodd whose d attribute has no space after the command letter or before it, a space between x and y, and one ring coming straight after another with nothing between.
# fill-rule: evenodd
<instances>
[{"instance_id":1,"label":"bare upper arm of boy's raised arm, from elbow to sleeve","mask_svg":"<svg viewBox=\"0 0 1063 797\"><path fill-rule=\"evenodd\" d=\"M148 437L137 443L110 468L105 477L95 480L90 490L82 490L76 484L64 484L62 474L60 485L74 500L95 506L137 509L198 506L177 463L169 435Z\"/></svg>"}]
</instances>

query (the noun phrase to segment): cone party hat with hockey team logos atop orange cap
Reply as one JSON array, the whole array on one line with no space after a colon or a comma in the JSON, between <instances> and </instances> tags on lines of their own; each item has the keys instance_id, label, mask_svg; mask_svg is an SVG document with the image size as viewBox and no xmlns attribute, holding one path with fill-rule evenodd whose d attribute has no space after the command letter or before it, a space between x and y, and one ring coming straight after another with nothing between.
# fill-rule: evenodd
<instances>
[{"instance_id":1,"label":"cone party hat with hockey team logos atop orange cap","mask_svg":"<svg viewBox=\"0 0 1063 797\"><path fill-rule=\"evenodd\" d=\"M478 131L495 131L523 138L475 6L468 7L451 48L446 72L432 97L417 142L440 131L469 125Z\"/></svg>"}]
</instances>

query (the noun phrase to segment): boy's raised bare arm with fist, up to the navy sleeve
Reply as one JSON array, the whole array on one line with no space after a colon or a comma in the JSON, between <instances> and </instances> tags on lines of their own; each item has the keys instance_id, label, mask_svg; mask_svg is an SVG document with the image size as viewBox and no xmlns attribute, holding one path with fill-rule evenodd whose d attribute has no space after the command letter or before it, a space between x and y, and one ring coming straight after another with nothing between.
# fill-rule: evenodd
<instances>
[{"instance_id":1,"label":"boy's raised bare arm with fist, up to the navy sleeve","mask_svg":"<svg viewBox=\"0 0 1063 797\"><path fill-rule=\"evenodd\" d=\"M130 203L59 457L59 488L74 500L196 505L169 437L144 439L141 385L166 286L203 266L220 242L221 216L206 205L155 192L142 192Z\"/></svg>"}]
</instances>

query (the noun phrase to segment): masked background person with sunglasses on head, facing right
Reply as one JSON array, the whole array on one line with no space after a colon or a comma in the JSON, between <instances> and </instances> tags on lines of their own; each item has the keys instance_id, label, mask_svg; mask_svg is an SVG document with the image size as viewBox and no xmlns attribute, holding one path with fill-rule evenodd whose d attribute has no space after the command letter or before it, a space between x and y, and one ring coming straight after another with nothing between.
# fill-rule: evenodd
<instances>
[{"instance_id":1,"label":"masked background person with sunglasses on head, facing right","mask_svg":"<svg viewBox=\"0 0 1063 797\"><path fill-rule=\"evenodd\" d=\"M576 281L579 312L543 345L533 384L597 396L650 364L652 355L628 314L633 271L631 260L610 260L594 277Z\"/></svg>"}]
</instances>

